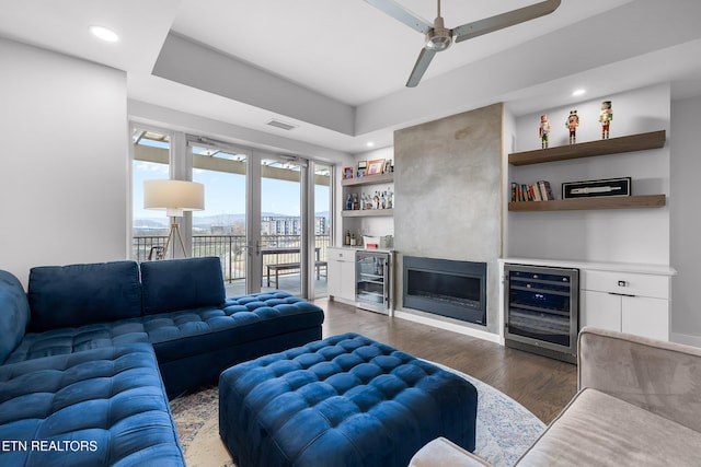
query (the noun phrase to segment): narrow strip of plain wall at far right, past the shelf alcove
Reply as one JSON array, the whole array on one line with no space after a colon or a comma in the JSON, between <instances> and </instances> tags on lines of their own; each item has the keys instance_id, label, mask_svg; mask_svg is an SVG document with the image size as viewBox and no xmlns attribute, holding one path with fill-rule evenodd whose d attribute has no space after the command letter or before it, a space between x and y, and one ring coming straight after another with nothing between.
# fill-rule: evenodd
<instances>
[{"instance_id":1,"label":"narrow strip of plain wall at far right, past the shelf alcove","mask_svg":"<svg viewBox=\"0 0 701 467\"><path fill-rule=\"evenodd\" d=\"M701 96L671 103L671 336L701 347L701 306L697 296L701 248Z\"/></svg>"}]
</instances>

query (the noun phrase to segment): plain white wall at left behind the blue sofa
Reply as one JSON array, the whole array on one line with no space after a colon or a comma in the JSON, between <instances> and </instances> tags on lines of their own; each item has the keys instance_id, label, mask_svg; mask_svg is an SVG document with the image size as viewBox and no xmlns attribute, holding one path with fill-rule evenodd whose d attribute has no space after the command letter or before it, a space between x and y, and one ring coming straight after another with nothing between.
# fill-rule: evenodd
<instances>
[{"instance_id":1,"label":"plain white wall at left behind the blue sofa","mask_svg":"<svg viewBox=\"0 0 701 467\"><path fill-rule=\"evenodd\" d=\"M126 74L0 39L0 268L126 257Z\"/></svg>"}]
</instances>

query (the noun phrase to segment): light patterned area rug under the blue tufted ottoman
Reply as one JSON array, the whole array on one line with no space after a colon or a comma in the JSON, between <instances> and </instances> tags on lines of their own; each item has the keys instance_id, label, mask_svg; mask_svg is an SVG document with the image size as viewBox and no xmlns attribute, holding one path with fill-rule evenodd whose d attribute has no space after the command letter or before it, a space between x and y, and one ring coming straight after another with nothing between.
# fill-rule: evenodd
<instances>
[{"instance_id":1,"label":"light patterned area rug under the blue tufted ottoman","mask_svg":"<svg viewBox=\"0 0 701 467\"><path fill-rule=\"evenodd\" d=\"M436 364L436 363L434 363ZM478 389L474 453L495 467L510 467L545 429L524 406L472 376L448 369ZM188 467L231 467L235 464L219 437L217 387L171 400L171 410Z\"/></svg>"}]
</instances>

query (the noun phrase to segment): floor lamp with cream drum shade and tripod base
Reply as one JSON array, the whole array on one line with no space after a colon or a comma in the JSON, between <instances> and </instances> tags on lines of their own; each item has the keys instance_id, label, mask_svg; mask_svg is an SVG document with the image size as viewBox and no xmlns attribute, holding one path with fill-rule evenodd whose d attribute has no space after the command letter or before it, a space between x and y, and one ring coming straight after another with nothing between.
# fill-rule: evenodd
<instances>
[{"instance_id":1,"label":"floor lamp with cream drum shade and tripod base","mask_svg":"<svg viewBox=\"0 0 701 467\"><path fill-rule=\"evenodd\" d=\"M195 182L146 180L143 182L143 208L165 210L166 215L171 218L171 231L165 241L163 256L168 256L168 248L177 236L183 255L187 257L176 218L182 218L185 211L205 209L205 186ZM174 250L171 257L174 257Z\"/></svg>"}]
</instances>

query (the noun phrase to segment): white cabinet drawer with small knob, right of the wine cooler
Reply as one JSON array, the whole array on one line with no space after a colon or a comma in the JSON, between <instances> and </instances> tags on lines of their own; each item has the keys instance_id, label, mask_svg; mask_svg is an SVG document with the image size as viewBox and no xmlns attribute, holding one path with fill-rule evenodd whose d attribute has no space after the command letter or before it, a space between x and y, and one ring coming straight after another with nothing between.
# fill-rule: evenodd
<instances>
[{"instance_id":1,"label":"white cabinet drawer with small knob, right of the wine cooler","mask_svg":"<svg viewBox=\"0 0 701 467\"><path fill-rule=\"evenodd\" d=\"M583 270L579 280L583 290L669 299L667 276Z\"/></svg>"}]
</instances>

